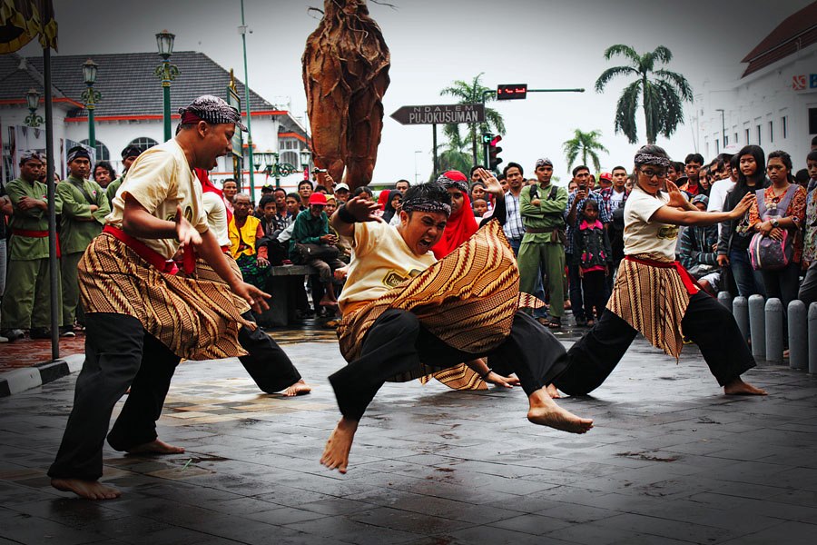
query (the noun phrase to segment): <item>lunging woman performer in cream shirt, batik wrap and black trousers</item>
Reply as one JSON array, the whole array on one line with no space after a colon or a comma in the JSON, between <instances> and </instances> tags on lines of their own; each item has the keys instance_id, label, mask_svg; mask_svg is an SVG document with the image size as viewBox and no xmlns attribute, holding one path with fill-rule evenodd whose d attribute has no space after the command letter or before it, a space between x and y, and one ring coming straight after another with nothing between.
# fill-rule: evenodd
<instances>
[{"instance_id":1,"label":"lunging woman performer in cream shirt, batik wrap and black trousers","mask_svg":"<svg viewBox=\"0 0 817 545\"><path fill-rule=\"evenodd\" d=\"M669 157L657 145L645 145L635 154L635 188L625 204L625 259L601 319L567 352L569 365L554 381L561 391L583 395L595 390L641 332L676 359L683 338L691 339L726 394L766 393L741 379L755 362L732 312L702 292L674 261L678 225L739 218L754 194L745 195L732 212L701 212L666 179L669 166Z\"/></svg>"}]
</instances>

